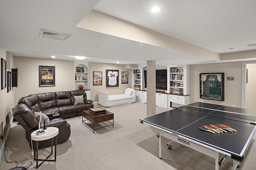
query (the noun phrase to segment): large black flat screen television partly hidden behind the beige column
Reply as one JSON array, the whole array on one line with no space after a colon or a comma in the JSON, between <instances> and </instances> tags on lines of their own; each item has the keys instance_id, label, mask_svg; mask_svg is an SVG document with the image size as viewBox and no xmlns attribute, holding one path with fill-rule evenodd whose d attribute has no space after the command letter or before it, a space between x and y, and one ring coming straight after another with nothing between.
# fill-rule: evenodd
<instances>
[{"instance_id":1,"label":"large black flat screen television partly hidden behind the beige column","mask_svg":"<svg viewBox=\"0 0 256 170\"><path fill-rule=\"evenodd\" d=\"M144 70L145 88L147 88L147 70ZM167 69L156 70L156 89L167 90Z\"/></svg>"}]
</instances>

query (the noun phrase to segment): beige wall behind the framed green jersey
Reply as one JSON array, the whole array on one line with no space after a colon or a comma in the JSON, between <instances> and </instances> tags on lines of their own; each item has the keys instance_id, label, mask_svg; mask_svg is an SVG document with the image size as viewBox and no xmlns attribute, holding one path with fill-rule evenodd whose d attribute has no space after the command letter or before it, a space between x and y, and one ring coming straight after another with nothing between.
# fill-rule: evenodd
<instances>
[{"instance_id":1,"label":"beige wall behind the framed green jersey","mask_svg":"<svg viewBox=\"0 0 256 170\"><path fill-rule=\"evenodd\" d=\"M218 72L224 72L225 101L201 99L199 74ZM227 80L227 77L234 77L234 80ZM241 107L241 92L242 62L190 65L190 103L206 102Z\"/></svg>"}]
</instances>

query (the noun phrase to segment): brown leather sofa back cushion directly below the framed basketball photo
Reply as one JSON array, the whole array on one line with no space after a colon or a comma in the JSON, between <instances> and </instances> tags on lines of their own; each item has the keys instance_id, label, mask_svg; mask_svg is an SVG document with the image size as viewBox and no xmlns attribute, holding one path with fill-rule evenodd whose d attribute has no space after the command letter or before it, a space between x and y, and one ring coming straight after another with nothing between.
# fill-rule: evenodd
<instances>
[{"instance_id":1,"label":"brown leather sofa back cushion directly below the framed basketball photo","mask_svg":"<svg viewBox=\"0 0 256 170\"><path fill-rule=\"evenodd\" d=\"M41 93L41 94L37 94L37 96L38 96L38 104L41 110L46 110L51 107L56 107L54 92Z\"/></svg>"}]
</instances>

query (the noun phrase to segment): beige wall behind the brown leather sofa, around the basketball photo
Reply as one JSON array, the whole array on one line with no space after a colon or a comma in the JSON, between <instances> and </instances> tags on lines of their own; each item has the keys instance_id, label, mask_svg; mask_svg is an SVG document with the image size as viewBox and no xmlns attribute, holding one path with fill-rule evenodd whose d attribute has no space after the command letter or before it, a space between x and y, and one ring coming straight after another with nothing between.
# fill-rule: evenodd
<instances>
[{"instance_id":1,"label":"beige wall behind the brown leather sofa, around the basketball photo","mask_svg":"<svg viewBox=\"0 0 256 170\"><path fill-rule=\"evenodd\" d=\"M39 87L39 66L55 66L55 86ZM16 67L18 87L14 88L14 104L30 94L75 90L74 61L14 57Z\"/></svg>"}]
</instances>

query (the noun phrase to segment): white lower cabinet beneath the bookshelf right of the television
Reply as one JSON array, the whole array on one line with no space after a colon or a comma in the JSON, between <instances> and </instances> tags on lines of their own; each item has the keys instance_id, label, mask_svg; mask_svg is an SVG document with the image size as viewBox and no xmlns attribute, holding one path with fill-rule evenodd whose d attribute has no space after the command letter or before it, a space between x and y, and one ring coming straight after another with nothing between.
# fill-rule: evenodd
<instances>
[{"instance_id":1,"label":"white lower cabinet beneath the bookshelf right of the television","mask_svg":"<svg viewBox=\"0 0 256 170\"><path fill-rule=\"evenodd\" d=\"M172 107L179 107L182 105L189 104L189 95L188 96L178 96L168 94L168 108L172 109Z\"/></svg>"}]
</instances>

